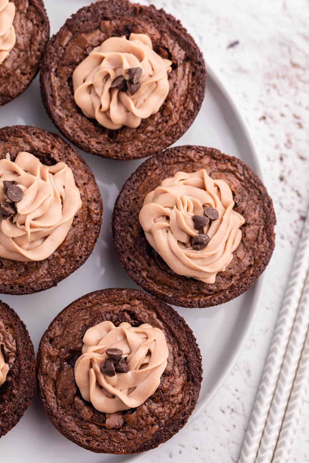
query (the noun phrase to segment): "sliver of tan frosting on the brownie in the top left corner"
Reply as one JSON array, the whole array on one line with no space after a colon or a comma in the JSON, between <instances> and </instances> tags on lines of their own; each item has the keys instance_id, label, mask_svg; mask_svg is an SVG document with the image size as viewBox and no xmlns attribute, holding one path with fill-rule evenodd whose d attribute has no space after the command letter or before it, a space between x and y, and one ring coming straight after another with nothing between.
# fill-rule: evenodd
<instances>
[{"instance_id":1,"label":"sliver of tan frosting on the brownie in the top left corner","mask_svg":"<svg viewBox=\"0 0 309 463\"><path fill-rule=\"evenodd\" d=\"M0 64L9 56L16 42L14 18L14 3L0 0Z\"/></svg>"}]
</instances>

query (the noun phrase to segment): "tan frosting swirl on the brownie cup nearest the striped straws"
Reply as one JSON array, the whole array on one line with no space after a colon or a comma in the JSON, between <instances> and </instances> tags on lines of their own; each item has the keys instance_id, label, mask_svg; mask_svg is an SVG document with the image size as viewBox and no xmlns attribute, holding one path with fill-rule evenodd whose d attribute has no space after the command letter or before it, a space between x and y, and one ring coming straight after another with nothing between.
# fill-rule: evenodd
<instances>
[{"instance_id":1,"label":"tan frosting swirl on the brownie cup nearest the striped straws","mask_svg":"<svg viewBox=\"0 0 309 463\"><path fill-rule=\"evenodd\" d=\"M203 205L216 209L219 219L203 233L209 244L194 250L191 238L199 234L193 215L204 215ZM178 275L214 283L233 259L241 241L240 226L245 219L233 210L231 188L224 180L212 180L205 169L193 174L177 172L147 194L139 221L151 246Z\"/></svg>"}]
</instances>

